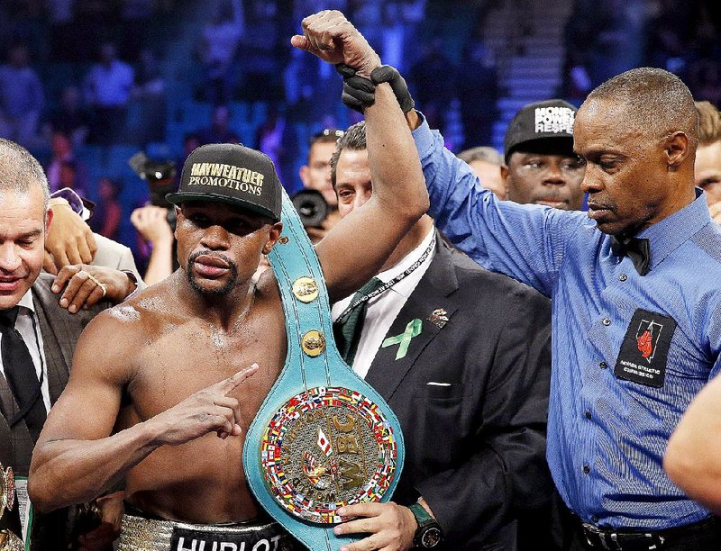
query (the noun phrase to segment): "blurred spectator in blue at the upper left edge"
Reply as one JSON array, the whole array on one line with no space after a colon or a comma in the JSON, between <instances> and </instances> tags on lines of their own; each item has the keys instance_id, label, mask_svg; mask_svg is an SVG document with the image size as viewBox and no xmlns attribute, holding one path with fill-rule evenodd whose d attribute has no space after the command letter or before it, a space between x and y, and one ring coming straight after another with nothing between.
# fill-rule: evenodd
<instances>
[{"instance_id":1,"label":"blurred spectator in blue at the upper left edge","mask_svg":"<svg viewBox=\"0 0 721 551\"><path fill-rule=\"evenodd\" d=\"M0 67L0 136L34 146L43 103L41 81L30 67L28 48L14 44L7 63Z\"/></svg>"}]
</instances>

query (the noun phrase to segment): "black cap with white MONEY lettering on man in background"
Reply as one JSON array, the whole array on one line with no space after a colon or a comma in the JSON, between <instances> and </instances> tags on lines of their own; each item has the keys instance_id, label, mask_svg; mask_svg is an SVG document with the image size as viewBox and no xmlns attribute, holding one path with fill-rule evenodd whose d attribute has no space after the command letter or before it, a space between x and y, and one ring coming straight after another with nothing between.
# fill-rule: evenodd
<instances>
[{"instance_id":1,"label":"black cap with white MONEY lettering on man in background","mask_svg":"<svg viewBox=\"0 0 721 551\"><path fill-rule=\"evenodd\" d=\"M536 140L559 140L559 149L572 151L577 111L560 99L524 105L508 124L503 148L506 163L515 149Z\"/></svg>"}]
</instances>

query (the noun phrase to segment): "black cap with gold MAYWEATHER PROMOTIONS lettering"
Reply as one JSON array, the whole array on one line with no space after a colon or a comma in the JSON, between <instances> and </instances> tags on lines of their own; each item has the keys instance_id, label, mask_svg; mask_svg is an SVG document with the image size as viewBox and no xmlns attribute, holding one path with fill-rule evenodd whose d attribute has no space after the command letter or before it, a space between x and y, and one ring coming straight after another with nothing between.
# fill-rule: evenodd
<instances>
[{"instance_id":1,"label":"black cap with gold MAYWEATHER PROMOTIONS lettering","mask_svg":"<svg viewBox=\"0 0 721 551\"><path fill-rule=\"evenodd\" d=\"M169 203L213 201L280 220L280 180L273 161L260 151L233 143L201 146L188 155L177 193Z\"/></svg>"}]
</instances>

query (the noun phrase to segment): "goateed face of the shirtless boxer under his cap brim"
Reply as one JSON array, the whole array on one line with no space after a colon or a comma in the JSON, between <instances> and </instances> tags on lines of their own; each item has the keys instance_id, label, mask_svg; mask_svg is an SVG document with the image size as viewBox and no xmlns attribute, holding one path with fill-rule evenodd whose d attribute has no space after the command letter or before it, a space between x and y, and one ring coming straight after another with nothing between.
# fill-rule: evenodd
<instances>
[{"instance_id":1,"label":"goateed face of the shirtless boxer under his cap brim","mask_svg":"<svg viewBox=\"0 0 721 551\"><path fill-rule=\"evenodd\" d=\"M230 294L251 280L281 229L280 222L224 203L183 203L175 233L178 261L197 293Z\"/></svg>"}]
</instances>

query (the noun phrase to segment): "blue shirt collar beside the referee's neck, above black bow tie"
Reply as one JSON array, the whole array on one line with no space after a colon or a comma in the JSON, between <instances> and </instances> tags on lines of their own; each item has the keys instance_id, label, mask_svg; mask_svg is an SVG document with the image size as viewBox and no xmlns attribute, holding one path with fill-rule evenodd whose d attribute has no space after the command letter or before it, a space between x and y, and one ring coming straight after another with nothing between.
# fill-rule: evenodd
<instances>
[{"instance_id":1,"label":"blue shirt collar beside the referee's neck, above black bow tie","mask_svg":"<svg viewBox=\"0 0 721 551\"><path fill-rule=\"evenodd\" d=\"M697 188L696 199L691 203L662 221L656 222L653 226L640 231L635 237L649 240L651 246L649 267L653 270L710 221L711 215L708 213L706 194Z\"/></svg>"}]
</instances>

